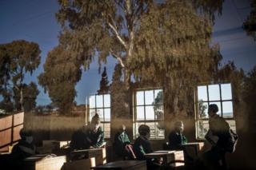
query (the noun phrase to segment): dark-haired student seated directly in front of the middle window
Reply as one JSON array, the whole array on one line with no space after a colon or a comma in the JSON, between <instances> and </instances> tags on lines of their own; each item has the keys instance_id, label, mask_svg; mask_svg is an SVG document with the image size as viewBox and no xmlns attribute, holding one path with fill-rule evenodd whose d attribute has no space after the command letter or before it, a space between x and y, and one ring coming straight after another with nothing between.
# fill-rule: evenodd
<instances>
[{"instance_id":1,"label":"dark-haired student seated directly in front of the middle window","mask_svg":"<svg viewBox=\"0 0 256 170\"><path fill-rule=\"evenodd\" d=\"M134 141L134 153L137 160L146 160L147 168L159 168L161 160L146 159L144 154L153 152L150 144L150 127L148 125L140 125L138 127L138 138Z\"/></svg>"}]
</instances>

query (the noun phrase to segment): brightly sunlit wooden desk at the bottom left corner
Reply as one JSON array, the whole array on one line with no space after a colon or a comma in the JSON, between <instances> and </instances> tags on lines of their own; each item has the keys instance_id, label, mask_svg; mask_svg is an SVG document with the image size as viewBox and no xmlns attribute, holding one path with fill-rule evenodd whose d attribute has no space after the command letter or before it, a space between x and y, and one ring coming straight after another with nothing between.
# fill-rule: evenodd
<instances>
[{"instance_id":1,"label":"brightly sunlit wooden desk at the bottom left corner","mask_svg":"<svg viewBox=\"0 0 256 170\"><path fill-rule=\"evenodd\" d=\"M65 162L66 156L35 155L24 160L24 167L26 170L61 170Z\"/></svg>"}]
</instances>

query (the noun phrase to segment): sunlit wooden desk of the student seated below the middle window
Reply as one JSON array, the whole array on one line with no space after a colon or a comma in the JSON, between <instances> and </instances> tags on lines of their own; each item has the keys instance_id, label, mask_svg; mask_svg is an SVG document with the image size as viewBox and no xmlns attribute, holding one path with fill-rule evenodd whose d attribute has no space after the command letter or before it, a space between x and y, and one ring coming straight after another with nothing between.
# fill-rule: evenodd
<instances>
[{"instance_id":1,"label":"sunlit wooden desk of the student seated below the middle window","mask_svg":"<svg viewBox=\"0 0 256 170\"><path fill-rule=\"evenodd\" d=\"M146 158L161 158L162 157L162 164L166 165L175 160L182 160L184 161L184 153L183 151L155 151L152 153L146 153L144 156ZM173 167L184 166L184 163L181 162L174 162L170 164Z\"/></svg>"}]
</instances>

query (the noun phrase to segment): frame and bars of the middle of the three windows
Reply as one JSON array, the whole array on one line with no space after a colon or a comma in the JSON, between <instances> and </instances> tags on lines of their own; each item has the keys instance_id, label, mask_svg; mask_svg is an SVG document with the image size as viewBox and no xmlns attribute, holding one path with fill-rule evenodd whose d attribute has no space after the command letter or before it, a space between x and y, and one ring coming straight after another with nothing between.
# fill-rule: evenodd
<instances>
[{"instance_id":1,"label":"frame and bars of the middle of the three windows","mask_svg":"<svg viewBox=\"0 0 256 170\"><path fill-rule=\"evenodd\" d=\"M155 99L155 97L157 97L157 94L155 93L155 91L157 90L161 90L162 91L162 104L146 104L146 95L145 95L145 92L146 91L152 91L153 90L153 98ZM138 92L143 92L143 105L137 105L137 96L136 94ZM159 121L157 121L157 118L156 118L156 113L154 112L154 120L146 120L146 106L162 106L162 111L163 111L163 117L164 117L164 97L163 97L163 89L161 87L157 87L157 88L148 88L148 89L135 89L134 90L134 93L133 93L133 137L134 139L136 139L138 137L138 127L137 127L137 124L144 124L146 125L147 123L154 123L154 130L155 130L155 135L154 137L152 137L150 135L150 140L164 140L165 139L165 131L166 129L162 129L164 132L163 132L163 137L158 137L158 135L156 134L157 133L157 129L156 129L156 125L157 123L160 123L162 122L163 124L165 124L165 120L164 118ZM144 119L143 120L137 120L137 107L143 107L144 109Z\"/></svg>"}]
</instances>

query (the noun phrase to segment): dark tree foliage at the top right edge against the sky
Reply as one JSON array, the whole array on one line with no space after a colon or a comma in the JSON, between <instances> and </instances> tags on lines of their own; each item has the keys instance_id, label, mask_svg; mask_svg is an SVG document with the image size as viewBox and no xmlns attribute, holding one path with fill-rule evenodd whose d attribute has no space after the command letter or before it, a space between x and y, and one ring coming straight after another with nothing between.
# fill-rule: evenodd
<instances>
[{"instance_id":1,"label":"dark tree foliage at the top right edge against the sky","mask_svg":"<svg viewBox=\"0 0 256 170\"><path fill-rule=\"evenodd\" d=\"M251 1L251 11L246 21L243 23L243 28L247 34L256 40L256 0Z\"/></svg>"}]
</instances>

